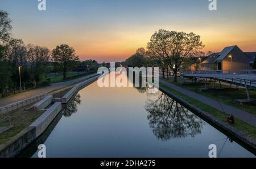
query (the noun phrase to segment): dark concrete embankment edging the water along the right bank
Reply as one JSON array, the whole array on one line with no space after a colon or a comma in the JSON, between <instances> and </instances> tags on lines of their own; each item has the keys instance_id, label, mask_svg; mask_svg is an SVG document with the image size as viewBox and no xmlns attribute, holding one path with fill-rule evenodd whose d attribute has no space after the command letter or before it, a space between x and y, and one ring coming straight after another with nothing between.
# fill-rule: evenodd
<instances>
[{"instance_id":1,"label":"dark concrete embankment edging the water along the right bank","mask_svg":"<svg viewBox=\"0 0 256 169\"><path fill-rule=\"evenodd\" d=\"M159 90L162 91L164 94L170 96L172 99L184 105L186 108L191 110L196 115L203 117L203 119L205 119L206 121L212 123L213 125L216 125L221 130L224 130L224 132L230 134L231 136L234 136L235 138L237 138L238 141L241 141L244 145L256 151L256 141L253 138L250 138L246 133L243 133L240 130L237 130L233 126L225 124L225 122L222 122L221 120L210 115L209 113L202 111L200 108L197 108L192 104L189 104L184 99L181 99L179 96L172 94L170 91L166 90L163 87L159 86Z\"/></svg>"}]
</instances>

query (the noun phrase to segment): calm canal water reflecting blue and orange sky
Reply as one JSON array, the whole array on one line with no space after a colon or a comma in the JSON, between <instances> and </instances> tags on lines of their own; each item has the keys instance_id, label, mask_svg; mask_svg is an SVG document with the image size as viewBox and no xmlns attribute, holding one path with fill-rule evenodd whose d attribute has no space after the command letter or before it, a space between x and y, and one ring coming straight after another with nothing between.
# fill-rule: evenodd
<instances>
[{"instance_id":1,"label":"calm canal water reflecting blue and orange sky","mask_svg":"<svg viewBox=\"0 0 256 169\"><path fill-rule=\"evenodd\" d=\"M255 157L162 92L85 87L20 157Z\"/></svg>"}]
</instances>

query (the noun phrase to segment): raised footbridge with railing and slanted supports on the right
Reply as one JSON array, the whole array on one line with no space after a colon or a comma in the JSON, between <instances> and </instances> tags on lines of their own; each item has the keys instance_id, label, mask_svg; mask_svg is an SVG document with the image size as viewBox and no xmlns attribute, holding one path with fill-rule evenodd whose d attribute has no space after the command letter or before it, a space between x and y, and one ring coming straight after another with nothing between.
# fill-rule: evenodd
<instances>
[{"instance_id":1,"label":"raised footbridge with railing and slanted supports on the right","mask_svg":"<svg viewBox=\"0 0 256 169\"><path fill-rule=\"evenodd\" d=\"M247 100L250 99L248 88L256 89L256 70L198 70L198 71L183 71L181 77L184 78L203 78L205 88L207 88L207 80L213 79L219 82L235 84L245 87ZM221 84L221 83L220 83Z\"/></svg>"}]
</instances>

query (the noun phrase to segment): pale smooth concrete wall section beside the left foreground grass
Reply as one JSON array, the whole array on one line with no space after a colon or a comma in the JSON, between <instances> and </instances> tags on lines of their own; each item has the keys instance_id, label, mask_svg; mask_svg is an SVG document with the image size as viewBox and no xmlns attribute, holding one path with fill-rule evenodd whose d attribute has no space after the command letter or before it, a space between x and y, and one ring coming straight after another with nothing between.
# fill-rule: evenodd
<instances>
[{"instance_id":1,"label":"pale smooth concrete wall section beside the left foreground grass","mask_svg":"<svg viewBox=\"0 0 256 169\"><path fill-rule=\"evenodd\" d=\"M36 137L39 137L44 130L51 124L52 120L61 111L61 103L54 103L46 112L43 113L36 121L34 121L30 126L36 128Z\"/></svg>"}]
</instances>

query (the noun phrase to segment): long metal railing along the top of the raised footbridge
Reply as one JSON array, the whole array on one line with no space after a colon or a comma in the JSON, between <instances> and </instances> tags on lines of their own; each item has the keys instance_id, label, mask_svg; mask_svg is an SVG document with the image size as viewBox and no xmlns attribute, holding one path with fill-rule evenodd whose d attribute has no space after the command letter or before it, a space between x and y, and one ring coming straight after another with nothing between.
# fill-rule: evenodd
<instances>
[{"instance_id":1,"label":"long metal railing along the top of the raised footbridge","mask_svg":"<svg viewBox=\"0 0 256 169\"><path fill-rule=\"evenodd\" d=\"M256 70L196 70L196 71L183 71L182 74L256 75Z\"/></svg>"}]
</instances>

